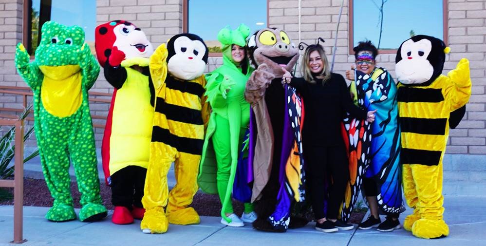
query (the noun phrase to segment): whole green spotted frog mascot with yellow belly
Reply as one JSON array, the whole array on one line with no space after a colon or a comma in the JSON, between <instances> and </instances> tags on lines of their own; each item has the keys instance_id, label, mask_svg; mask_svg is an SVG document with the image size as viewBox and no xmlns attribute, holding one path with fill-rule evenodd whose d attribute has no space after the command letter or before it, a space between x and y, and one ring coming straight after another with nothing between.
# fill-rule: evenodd
<instances>
[{"instance_id":1,"label":"whole green spotted frog mascot with yellow belly","mask_svg":"<svg viewBox=\"0 0 486 246\"><path fill-rule=\"evenodd\" d=\"M34 117L40 162L47 187L54 198L46 219L76 219L71 197L70 160L81 192L79 220L91 222L107 215L102 205L93 123L88 90L99 66L84 43L79 26L47 21L35 60L29 63L24 46L17 45L15 63L19 75L34 93Z\"/></svg>"}]
</instances>

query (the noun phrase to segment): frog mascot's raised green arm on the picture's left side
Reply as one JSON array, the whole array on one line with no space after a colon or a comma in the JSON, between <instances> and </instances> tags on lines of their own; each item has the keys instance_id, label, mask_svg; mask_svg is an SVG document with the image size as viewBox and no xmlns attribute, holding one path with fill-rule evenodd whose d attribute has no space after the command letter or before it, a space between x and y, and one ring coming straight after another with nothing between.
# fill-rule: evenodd
<instances>
[{"instance_id":1,"label":"frog mascot's raised green arm on the picture's left side","mask_svg":"<svg viewBox=\"0 0 486 246\"><path fill-rule=\"evenodd\" d=\"M37 62L30 62L29 53L27 53L22 43L17 44L17 49L15 51L15 66L17 67L19 75L23 78L25 83L32 88L32 90L36 90L36 87L40 86L40 70L37 66Z\"/></svg>"}]
</instances>

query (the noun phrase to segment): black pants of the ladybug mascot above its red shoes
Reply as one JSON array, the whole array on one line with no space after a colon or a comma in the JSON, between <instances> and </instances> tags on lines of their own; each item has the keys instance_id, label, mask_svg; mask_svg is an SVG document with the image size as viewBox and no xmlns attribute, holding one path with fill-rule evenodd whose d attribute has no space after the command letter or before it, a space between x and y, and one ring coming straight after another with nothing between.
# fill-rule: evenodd
<instances>
[{"instance_id":1,"label":"black pants of the ladybug mascot above its red shoes","mask_svg":"<svg viewBox=\"0 0 486 246\"><path fill-rule=\"evenodd\" d=\"M128 166L112 175L112 203L113 206L131 206L143 208L145 176L147 169L139 166Z\"/></svg>"}]
</instances>

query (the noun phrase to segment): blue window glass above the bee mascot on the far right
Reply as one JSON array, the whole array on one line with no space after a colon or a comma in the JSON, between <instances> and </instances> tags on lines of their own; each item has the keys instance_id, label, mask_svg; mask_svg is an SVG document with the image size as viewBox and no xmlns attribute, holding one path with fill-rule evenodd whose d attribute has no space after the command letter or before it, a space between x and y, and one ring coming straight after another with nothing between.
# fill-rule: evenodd
<instances>
[{"instance_id":1,"label":"blue window glass above the bee mascot on the far right","mask_svg":"<svg viewBox=\"0 0 486 246\"><path fill-rule=\"evenodd\" d=\"M381 5L381 0L354 0L353 35L354 44L366 38L378 47L380 35L379 11L373 1ZM410 38L410 30L415 35L424 34L443 39L442 0L388 0L384 5L383 32L380 49L396 49Z\"/></svg>"}]
</instances>

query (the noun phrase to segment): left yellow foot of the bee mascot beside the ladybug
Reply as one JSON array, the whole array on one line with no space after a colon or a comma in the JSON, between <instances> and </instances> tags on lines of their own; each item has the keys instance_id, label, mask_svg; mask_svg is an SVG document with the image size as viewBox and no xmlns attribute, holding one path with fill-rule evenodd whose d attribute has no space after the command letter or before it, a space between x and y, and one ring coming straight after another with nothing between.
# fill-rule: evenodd
<instances>
[{"instance_id":1,"label":"left yellow foot of the bee mascot beside the ladybug","mask_svg":"<svg viewBox=\"0 0 486 246\"><path fill-rule=\"evenodd\" d=\"M143 233L165 233L168 227L168 219L162 207L147 209L142 223L140 223L140 229L142 229Z\"/></svg>"}]
</instances>

